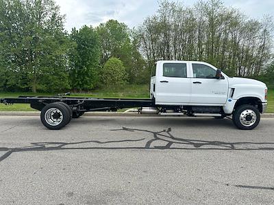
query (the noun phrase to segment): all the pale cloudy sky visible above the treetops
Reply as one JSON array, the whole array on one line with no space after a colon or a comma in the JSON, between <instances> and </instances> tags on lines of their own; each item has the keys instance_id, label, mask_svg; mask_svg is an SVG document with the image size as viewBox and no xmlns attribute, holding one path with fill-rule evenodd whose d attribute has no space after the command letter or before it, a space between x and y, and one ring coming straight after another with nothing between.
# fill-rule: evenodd
<instances>
[{"instance_id":1,"label":"all the pale cloudy sky visible above the treetops","mask_svg":"<svg viewBox=\"0 0 274 205\"><path fill-rule=\"evenodd\" d=\"M126 23L130 28L138 27L147 17L158 10L158 0L55 0L60 11L66 15L65 28L79 29L83 25L96 27L110 19ZM180 1L180 0L179 0ZM181 0L182 1L182 0ZM182 1L193 5L196 0ZM264 14L274 16L274 0L225 0L226 6L238 8L251 18L262 18Z\"/></svg>"}]
</instances>

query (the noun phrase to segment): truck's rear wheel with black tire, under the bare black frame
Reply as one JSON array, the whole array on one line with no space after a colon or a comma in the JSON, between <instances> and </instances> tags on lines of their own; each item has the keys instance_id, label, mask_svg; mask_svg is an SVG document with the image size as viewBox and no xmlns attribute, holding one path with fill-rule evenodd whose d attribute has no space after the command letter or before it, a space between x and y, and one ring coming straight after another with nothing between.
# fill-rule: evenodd
<instances>
[{"instance_id":1,"label":"truck's rear wheel with black tire, under the bare black frame","mask_svg":"<svg viewBox=\"0 0 274 205\"><path fill-rule=\"evenodd\" d=\"M53 113L55 109L55 113ZM52 116L52 115L57 115ZM62 116L62 118L61 118ZM54 122L54 120L59 120L58 122ZM69 123L70 114L69 110L60 103L51 103L46 105L40 114L40 119L42 124L49 128L50 130L60 130Z\"/></svg>"}]
</instances>

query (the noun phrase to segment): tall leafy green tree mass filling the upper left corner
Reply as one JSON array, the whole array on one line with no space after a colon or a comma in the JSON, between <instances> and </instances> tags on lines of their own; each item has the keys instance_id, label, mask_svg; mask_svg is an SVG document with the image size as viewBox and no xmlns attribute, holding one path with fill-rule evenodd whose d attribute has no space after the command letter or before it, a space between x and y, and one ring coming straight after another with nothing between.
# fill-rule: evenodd
<instances>
[{"instance_id":1,"label":"tall leafy green tree mass filling the upper left corner","mask_svg":"<svg viewBox=\"0 0 274 205\"><path fill-rule=\"evenodd\" d=\"M69 42L55 1L1 0L0 19L0 68L7 74L4 89L69 89L65 74Z\"/></svg>"}]
</instances>

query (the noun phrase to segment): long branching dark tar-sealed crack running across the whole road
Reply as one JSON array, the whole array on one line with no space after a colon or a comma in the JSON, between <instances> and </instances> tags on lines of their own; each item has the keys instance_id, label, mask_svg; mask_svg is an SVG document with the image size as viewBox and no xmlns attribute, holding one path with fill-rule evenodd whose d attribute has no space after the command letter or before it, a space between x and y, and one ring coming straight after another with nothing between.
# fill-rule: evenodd
<instances>
[{"instance_id":1,"label":"long branching dark tar-sealed crack running across the whole road","mask_svg":"<svg viewBox=\"0 0 274 205\"><path fill-rule=\"evenodd\" d=\"M225 142L225 141L207 141L199 139L187 139L175 137L171 133L171 128L166 130L154 132L148 130L142 130L137 128L120 128L111 131L125 131L125 132L138 132L140 137L142 133L149 133L151 137L147 139L125 139L118 141L78 141L78 142L34 142L30 143L30 146L25 146L21 148L5 148L0 147L0 152L5 152L0 156L0 162L7 159L14 152L38 152L38 151L54 151L54 150L262 150L262 151L274 151L274 142ZM147 136L147 135L146 135ZM79 145L84 143L95 143L96 145L105 145L105 144L115 144L115 143L134 143L138 141L144 141L144 146L110 146L110 147L99 147L99 146L90 146L90 147L79 147ZM160 141L164 143L164 146L153 146L153 143ZM77 145L77 147L68 147Z\"/></svg>"}]
</instances>

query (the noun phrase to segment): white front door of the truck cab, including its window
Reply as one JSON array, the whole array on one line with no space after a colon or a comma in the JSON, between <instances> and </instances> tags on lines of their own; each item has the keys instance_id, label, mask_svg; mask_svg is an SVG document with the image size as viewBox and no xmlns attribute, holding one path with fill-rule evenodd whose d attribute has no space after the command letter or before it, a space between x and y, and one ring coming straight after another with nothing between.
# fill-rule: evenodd
<instances>
[{"instance_id":1,"label":"white front door of the truck cab, including its window","mask_svg":"<svg viewBox=\"0 0 274 205\"><path fill-rule=\"evenodd\" d=\"M216 68L206 64L192 64L191 104L223 105L227 100L227 77L216 79Z\"/></svg>"}]
</instances>

